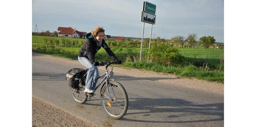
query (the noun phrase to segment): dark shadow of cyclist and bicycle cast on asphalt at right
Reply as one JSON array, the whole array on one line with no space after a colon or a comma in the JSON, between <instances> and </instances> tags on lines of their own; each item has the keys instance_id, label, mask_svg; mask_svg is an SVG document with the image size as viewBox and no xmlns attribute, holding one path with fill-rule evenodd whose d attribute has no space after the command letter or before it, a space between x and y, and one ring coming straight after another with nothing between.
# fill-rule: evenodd
<instances>
[{"instance_id":1,"label":"dark shadow of cyclist and bicycle cast on asphalt at right","mask_svg":"<svg viewBox=\"0 0 256 127\"><path fill-rule=\"evenodd\" d=\"M123 117L120 120L148 123L194 123L224 120L224 103L193 104L183 99L129 98L128 110L135 110L133 113L125 114L125 116L134 115L134 119ZM136 117L138 115L141 118L138 119ZM152 121L147 120L148 116L151 118L160 116L164 119Z\"/></svg>"}]
</instances>

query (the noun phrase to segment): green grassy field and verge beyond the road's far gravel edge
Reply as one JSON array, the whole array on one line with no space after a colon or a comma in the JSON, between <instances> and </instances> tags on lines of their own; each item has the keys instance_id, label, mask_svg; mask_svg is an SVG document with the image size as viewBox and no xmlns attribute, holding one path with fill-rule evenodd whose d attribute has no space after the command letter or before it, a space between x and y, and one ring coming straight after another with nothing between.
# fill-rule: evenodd
<instances>
[{"instance_id":1,"label":"green grassy field and verge beyond the road's far gravel edge","mask_svg":"<svg viewBox=\"0 0 256 127\"><path fill-rule=\"evenodd\" d=\"M32 36L32 52L50 54L57 57L64 57L77 60L78 52L81 49L82 43L85 39L79 40L78 46L49 46L45 44L42 36ZM51 39L58 39L61 43L61 38L50 37ZM72 39L70 39L72 40ZM152 70L156 72L172 73L184 77L195 77L201 80L217 81L224 83L224 49L204 49L204 48L178 48L180 54L185 57L186 64L181 67L165 67L158 63L148 63L146 53L148 47L142 49L142 61L139 62L140 47L110 47L116 54L119 60L122 60L125 67L141 68ZM112 61L103 48L96 54L97 61ZM129 59L129 62L125 63ZM129 61L128 60L128 61Z\"/></svg>"}]
</instances>

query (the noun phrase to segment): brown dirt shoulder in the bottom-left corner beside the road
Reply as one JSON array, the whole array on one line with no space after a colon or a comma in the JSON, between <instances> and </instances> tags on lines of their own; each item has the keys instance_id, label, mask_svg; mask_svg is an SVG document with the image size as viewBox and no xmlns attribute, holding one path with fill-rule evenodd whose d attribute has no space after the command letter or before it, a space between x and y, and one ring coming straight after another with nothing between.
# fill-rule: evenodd
<instances>
[{"instance_id":1,"label":"brown dirt shoulder in the bottom-left corner beside the road","mask_svg":"<svg viewBox=\"0 0 256 127\"><path fill-rule=\"evenodd\" d=\"M32 96L32 127L98 127Z\"/></svg>"}]
</instances>

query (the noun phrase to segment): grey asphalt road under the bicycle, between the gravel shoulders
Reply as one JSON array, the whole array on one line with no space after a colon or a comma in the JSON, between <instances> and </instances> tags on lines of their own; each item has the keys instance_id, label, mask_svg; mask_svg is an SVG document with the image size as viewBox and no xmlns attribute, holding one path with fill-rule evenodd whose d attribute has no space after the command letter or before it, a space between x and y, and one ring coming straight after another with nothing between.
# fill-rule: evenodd
<instances>
[{"instance_id":1,"label":"grey asphalt road under the bicycle, between the gravel shoulders","mask_svg":"<svg viewBox=\"0 0 256 127\"><path fill-rule=\"evenodd\" d=\"M78 67L32 57L32 95L99 126L224 126L224 95L118 74L113 78L126 89L129 107L123 118L112 119L101 105L100 88L84 104L73 100L65 80L72 68Z\"/></svg>"}]
</instances>

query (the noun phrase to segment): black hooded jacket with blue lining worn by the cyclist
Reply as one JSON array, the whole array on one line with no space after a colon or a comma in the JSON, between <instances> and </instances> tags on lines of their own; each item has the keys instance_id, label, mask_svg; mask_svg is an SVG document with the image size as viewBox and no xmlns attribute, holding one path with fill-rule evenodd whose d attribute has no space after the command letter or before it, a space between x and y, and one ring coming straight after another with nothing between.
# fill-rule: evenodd
<instances>
[{"instance_id":1,"label":"black hooded jacket with blue lining worn by the cyclist","mask_svg":"<svg viewBox=\"0 0 256 127\"><path fill-rule=\"evenodd\" d=\"M100 50L101 47L103 47L111 59L117 59L116 55L112 52L112 50L110 50L110 47L108 47L104 39L102 40L101 46L98 47L96 40L93 38L91 32L86 35L86 38L86 41L78 53L79 57L86 57L91 60L91 62L95 62L95 54Z\"/></svg>"}]
</instances>

